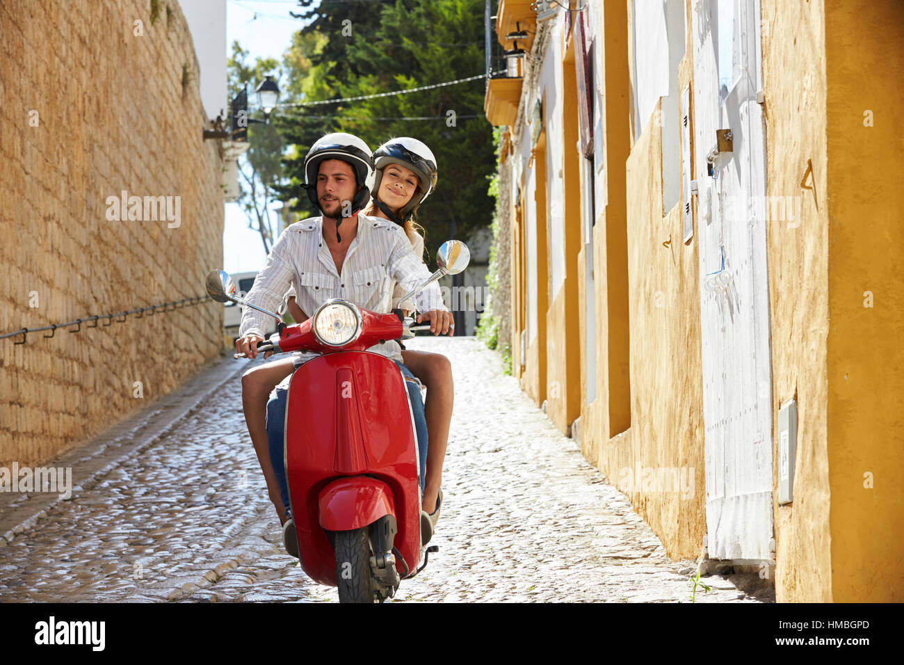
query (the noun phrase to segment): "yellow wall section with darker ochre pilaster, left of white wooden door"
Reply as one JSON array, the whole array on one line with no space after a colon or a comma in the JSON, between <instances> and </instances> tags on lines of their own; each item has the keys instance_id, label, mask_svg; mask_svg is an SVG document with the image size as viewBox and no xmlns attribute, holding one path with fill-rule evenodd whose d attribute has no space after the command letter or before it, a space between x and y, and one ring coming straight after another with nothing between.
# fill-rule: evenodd
<instances>
[{"instance_id":1,"label":"yellow wall section with darker ochre pilaster, left of white wooden door","mask_svg":"<svg viewBox=\"0 0 904 665\"><path fill-rule=\"evenodd\" d=\"M669 556L695 557L706 533L696 242L682 243L680 205L662 215L662 135L652 118L631 146L626 7L607 4L604 12L607 201L594 227L597 398L586 404L584 391L581 447ZM690 75L689 45L682 86ZM683 468L688 478L693 470L692 495L641 491L636 470L649 467Z\"/></svg>"}]
</instances>

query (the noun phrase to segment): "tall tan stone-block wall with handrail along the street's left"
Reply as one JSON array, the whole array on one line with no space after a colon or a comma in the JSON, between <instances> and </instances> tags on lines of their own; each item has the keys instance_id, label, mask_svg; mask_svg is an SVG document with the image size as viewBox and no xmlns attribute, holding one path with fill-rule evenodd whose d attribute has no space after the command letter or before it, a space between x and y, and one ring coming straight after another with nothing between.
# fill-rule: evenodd
<instances>
[{"instance_id":1,"label":"tall tan stone-block wall with handrail along the street's left","mask_svg":"<svg viewBox=\"0 0 904 665\"><path fill-rule=\"evenodd\" d=\"M0 62L0 334L202 295L222 262L221 154L179 5L3 0ZM142 219L118 221L123 192ZM169 217L146 196L171 197ZM219 354L221 317L206 300L0 339L0 466L172 390Z\"/></svg>"}]
</instances>

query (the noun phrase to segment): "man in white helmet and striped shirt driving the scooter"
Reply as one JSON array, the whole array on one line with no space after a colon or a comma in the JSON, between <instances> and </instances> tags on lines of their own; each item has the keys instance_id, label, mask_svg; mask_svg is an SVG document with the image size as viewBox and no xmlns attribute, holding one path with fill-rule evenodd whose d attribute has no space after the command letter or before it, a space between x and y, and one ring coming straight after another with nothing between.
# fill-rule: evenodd
<instances>
[{"instance_id":1,"label":"man in white helmet and striped shirt driving the scooter","mask_svg":"<svg viewBox=\"0 0 904 665\"><path fill-rule=\"evenodd\" d=\"M362 309L388 313L392 308L393 281L398 281L405 290L412 290L428 279L426 266L414 255L411 242L399 225L359 214L370 195L367 183L371 168L371 150L360 138L336 133L315 142L305 157L306 189L311 203L323 216L294 223L280 235L267 265L258 273L248 294L250 302L263 309L277 309L289 285L294 283L297 304L306 312L315 311L328 299L343 298ZM451 332L452 315L443 305L435 282L420 291L415 300L424 312L419 322L429 320L435 334ZM246 307L236 349L256 357L266 323L267 315ZM411 377L401 365L398 343L385 342L368 350L396 361L403 374ZM410 387L422 448L420 481L423 484L427 424L417 387L408 381L406 385ZM268 435L271 444L277 440L278 450L282 448L284 413L285 391L277 390L268 404ZM271 465L267 446L255 442L255 451L270 498L282 516L288 504L282 465ZM279 497L279 503L284 505L278 505L274 497ZM291 521L286 525L284 533L292 526ZM287 539L287 543L293 540ZM291 547L287 548L291 552ZM297 550L291 553L297 556Z\"/></svg>"}]
</instances>

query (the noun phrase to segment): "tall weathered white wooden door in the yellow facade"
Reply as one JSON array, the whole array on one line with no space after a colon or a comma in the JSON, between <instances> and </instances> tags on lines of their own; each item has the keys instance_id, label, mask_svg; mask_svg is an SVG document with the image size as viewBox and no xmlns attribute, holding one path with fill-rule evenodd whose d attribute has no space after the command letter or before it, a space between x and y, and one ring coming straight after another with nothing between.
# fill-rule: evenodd
<instances>
[{"instance_id":1,"label":"tall weathered white wooden door in the yellow facade","mask_svg":"<svg viewBox=\"0 0 904 665\"><path fill-rule=\"evenodd\" d=\"M692 30L708 552L764 560L772 414L758 0L694 0ZM717 154L719 129L731 130L731 150Z\"/></svg>"}]
</instances>

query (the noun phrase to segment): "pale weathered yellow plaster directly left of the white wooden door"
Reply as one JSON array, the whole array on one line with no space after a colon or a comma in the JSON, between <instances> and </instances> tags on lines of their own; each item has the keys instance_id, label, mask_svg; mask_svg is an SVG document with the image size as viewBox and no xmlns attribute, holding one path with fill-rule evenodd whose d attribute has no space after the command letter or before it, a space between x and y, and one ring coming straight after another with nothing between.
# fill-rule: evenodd
<instances>
[{"instance_id":1,"label":"pale weathered yellow plaster directly left of the white wooden door","mask_svg":"<svg viewBox=\"0 0 904 665\"><path fill-rule=\"evenodd\" d=\"M692 557L706 532L699 260L696 242L681 242L681 205L662 214L662 133L654 118L627 160L631 454L612 460L618 473L610 463L607 475L619 487L622 469L632 461L635 468L692 474L688 497L619 487L670 556Z\"/></svg>"}]
</instances>

